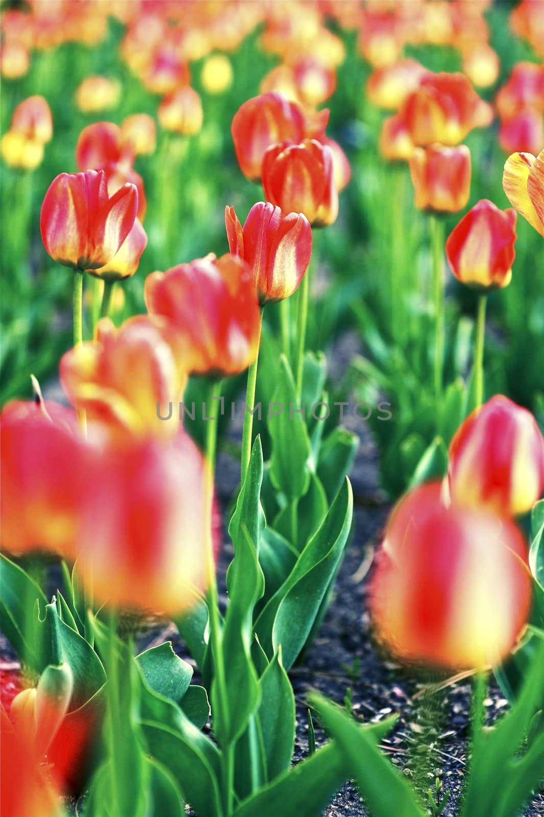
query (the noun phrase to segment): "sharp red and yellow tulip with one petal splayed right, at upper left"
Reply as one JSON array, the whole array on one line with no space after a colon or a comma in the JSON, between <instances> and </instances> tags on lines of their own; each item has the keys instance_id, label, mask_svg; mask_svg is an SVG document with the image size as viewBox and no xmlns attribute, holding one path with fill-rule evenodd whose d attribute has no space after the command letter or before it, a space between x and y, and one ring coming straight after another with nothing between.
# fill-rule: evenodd
<instances>
[{"instance_id":1,"label":"sharp red and yellow tulip with one petal splayed right, at upper left","mask_svg":"<svg viewBox=\"0 0 544 817\"><path fill-rule=\"evenodd\" d=\"M103 170L60 173L42 203L40 230L54 261L96 270L114 257L132 230L138 209L135 185L108 195Z\"/></svg>"}]
</instances>

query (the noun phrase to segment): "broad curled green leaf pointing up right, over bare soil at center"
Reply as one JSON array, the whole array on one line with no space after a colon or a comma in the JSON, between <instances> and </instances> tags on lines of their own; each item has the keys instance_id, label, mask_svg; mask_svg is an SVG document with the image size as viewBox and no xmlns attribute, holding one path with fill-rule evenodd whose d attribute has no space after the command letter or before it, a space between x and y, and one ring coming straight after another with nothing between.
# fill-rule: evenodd
<instances>
[{"instance_id":1,"label":"broad curled green leaf pointing up right, over bare soil at center","mask_svg":"<svg viewBox=\"0 0 544 817\"><path fill-rule=\"evenodd\" d=\"M265 653L271 658L281 644L283 665L287 670L305 644L341 560L352 514L353 494L350 481L346 479L323 524L256 621L255 630Z\"/></svg>"}]
</instances>

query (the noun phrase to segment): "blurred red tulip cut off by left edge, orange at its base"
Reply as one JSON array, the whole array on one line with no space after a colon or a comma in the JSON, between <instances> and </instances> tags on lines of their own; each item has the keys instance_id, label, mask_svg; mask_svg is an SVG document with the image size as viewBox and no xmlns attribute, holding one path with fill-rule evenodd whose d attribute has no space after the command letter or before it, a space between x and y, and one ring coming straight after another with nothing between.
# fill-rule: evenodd
<instances>
[{"instance_id":1,"label":"blurred red tulip cut off by left edge, orange at its base","mask_svg":"<svg viewBox=\"0 0 544 817\"><path fill-rule=\"evenodd\" d=\"M38 548L72 556L87 458L74 413L14 401L0 426L2 547L17 556Z\"/></svg>"}]
</instances>

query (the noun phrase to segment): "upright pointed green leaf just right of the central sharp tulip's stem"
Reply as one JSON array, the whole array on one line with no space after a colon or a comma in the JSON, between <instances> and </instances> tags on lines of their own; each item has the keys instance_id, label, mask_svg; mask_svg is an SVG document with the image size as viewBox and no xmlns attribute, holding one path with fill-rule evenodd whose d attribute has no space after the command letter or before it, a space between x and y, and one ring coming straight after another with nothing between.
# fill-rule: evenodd
<instances>
[{"instance_id":1,"label":"upright pointed green leaf just right of the central sharp tulip's stem","mask_svg":"<svg viewBox=\"0 0 544 817\"><path fill-rule=\"evenodd\" d=\"M269 417L268 422L272 438L270 479L275 488L283 491L292 502L308 489L310 439L302 415L294 413L301 407L285 355L279 359L278 382L272 403L278 404L278 411L279 407L282 411Z\"/></svg>"}]
</instances>

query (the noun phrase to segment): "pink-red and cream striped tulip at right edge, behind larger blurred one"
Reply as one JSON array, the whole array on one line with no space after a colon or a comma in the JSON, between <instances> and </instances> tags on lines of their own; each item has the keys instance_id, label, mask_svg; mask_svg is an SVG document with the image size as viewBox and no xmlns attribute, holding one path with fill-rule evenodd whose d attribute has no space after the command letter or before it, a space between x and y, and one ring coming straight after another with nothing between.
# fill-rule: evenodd
<instances>
[{"instance_id":1,"label":"pink-red and cream striped tulip at right edge, behind larger blurred one","mask_svg":"<svg viewBox=\"0 0 544 817\"><path fill-rule=\"evenodd\" d=\"M544 488L544 439L533 415L496 395L466 418L449 447L453 502L516 516Z\"/></svg>"}]
</instances>

